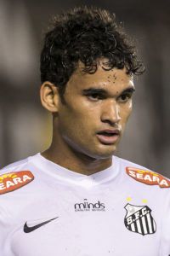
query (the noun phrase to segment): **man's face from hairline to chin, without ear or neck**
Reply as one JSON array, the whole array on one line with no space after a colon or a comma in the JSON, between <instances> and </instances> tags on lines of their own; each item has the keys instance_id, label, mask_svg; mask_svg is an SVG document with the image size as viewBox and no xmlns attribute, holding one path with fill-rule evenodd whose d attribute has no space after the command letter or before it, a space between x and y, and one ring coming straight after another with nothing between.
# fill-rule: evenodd
<instances>
[{"instance_id":1,"label":"man's face from hairline to chin, without ear or neck","mask_svg":"<svg viewBox=\"0 0 170 256\"><path fill-rule=\"evenodd\" d=\"M55 131L63 146L95 159L111 157L132 111L133 77L126 69L82 73L81 65L66 84ZM64 151L63 151L64 152Z\"/></svg>"}]
</instances>

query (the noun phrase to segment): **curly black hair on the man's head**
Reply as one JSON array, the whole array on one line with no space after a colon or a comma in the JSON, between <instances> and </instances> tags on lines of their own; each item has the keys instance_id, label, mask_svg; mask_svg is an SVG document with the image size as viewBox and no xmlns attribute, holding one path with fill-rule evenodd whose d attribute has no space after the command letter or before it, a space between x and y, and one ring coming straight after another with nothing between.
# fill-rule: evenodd
<instances>
[{"instance_id":1,"label":"curly black hair on the man's head","mask_svg":"<svg viewBox=\"0 0 170 256\"><path fill-rule=\"evenodd\" d=\"M127 73L144 72L135 47L127 40L115 15L97 8L75 8L54 17L54 28L45 35L41 53L41 80L50 81L64 95L65 85L82 61L85 73L95 73L101 59L105 70L127 68Z\"/></svg>"}]
</instances>

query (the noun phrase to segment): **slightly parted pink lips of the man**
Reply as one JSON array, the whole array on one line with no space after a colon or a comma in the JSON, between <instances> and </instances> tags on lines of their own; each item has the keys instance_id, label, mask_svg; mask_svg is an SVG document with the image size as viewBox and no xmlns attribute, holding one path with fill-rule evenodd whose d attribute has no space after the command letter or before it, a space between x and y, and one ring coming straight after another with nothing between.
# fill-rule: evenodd
<instances>
[{"instance_id":1,"label":"slightly parted pink lips of the man","mask_svg":"<svg viewBox=\"0 0 170 256\"><path fill-rule=\"evenodd\" d=\"M99 142L103 144L114 144L116 143L119 136L120 131L117 129L106 129L103 131L99 131L96 134L96 137L99 139Z\"/></svg>"}]
</instances>

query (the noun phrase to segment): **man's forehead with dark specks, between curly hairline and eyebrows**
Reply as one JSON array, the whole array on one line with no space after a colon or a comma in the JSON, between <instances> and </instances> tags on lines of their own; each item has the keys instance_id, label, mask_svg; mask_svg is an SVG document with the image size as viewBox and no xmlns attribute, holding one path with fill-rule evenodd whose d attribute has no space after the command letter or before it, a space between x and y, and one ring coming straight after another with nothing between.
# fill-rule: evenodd
<instances>
[{"instance_id":1,"label":"man's forehead with dark specks, between curly hairline and eyebrows","mask_svg":"<svg viewBox=\"0 0 170 256\"><path fill-rule=\"evenodd\" d=\"M95 73L84 73L83 65L79 64L77 70L72 74L67 86L72 90L87 89L88 87L98 87L105 90L124 90L133 87L133 76L127 74L127 69L104 70L102 65L98 65ZM73 89L74 88L74 89Z\"/></svg>"}]
</instances>

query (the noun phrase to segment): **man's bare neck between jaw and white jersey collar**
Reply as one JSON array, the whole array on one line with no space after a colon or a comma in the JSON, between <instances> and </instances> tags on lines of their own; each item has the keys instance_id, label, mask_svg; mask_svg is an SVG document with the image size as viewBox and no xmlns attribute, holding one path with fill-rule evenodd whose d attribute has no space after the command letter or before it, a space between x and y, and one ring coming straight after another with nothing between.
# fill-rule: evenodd
<instances>
[{"instance_id":1,"label":"man's bare neck between jaw and white jersey collar","mask_svg":"<svg viewBox=\"0 0 170 256\"><path fill-rule=\"evenodd\" d=\"M61 148L59 148L59 143L57 146L54 146L52 143L50 148L42 152L42 156L72 172L78 172L85 175L91 175L105 170L111 166L112 163L111 157L107 159L94 159L80 152L74 152L71 148L61 150Z\"/></svg>"}]
</instances>

